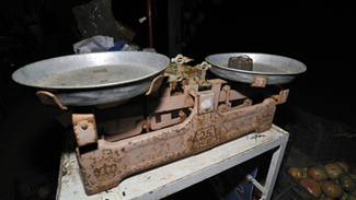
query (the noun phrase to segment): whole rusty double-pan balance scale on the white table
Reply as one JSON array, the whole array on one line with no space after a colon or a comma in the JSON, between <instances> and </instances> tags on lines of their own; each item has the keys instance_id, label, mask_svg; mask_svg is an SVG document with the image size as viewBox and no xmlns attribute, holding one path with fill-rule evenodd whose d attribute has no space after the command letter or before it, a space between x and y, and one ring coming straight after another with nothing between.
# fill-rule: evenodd
<instances>
[{"instance_id":1,"label":"whole rusty double-pan balance scale on the white table","mask_svg":"<svg viewBox=\"0 0 356 200\"><path fill-rule=\"evenodd\" d=\"M81 177L94 195L134 173L269 130L289 93L280 85L307 70L266 54L190 61L142 51L72 55L31 63L12 78L34 87L43 104L71 109Z\"/></svg>"}]
</instances>

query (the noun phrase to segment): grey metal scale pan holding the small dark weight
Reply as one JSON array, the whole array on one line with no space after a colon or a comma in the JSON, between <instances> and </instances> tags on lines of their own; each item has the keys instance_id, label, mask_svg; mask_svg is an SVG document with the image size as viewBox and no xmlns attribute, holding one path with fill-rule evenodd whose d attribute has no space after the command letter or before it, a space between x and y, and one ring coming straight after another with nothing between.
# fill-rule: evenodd
<instances>
[{"instance_id":1,"label":"grey metal scale pan holding the small dark weight","mask_svg":"<svg viewBox=\"0 0 356 200\"><path fill-rule=\"evenodd\" d=\"M253 60L253 70L239 70L228 68L228 61L231 57L239 57L246 55ZM253 83L254 77L266 77L267 84L285 84L291 82L297 74L307 70L307 67L295 59L254 52L231 52L217 54L205 58L211 67L211 72L231 80L243 83Z\"/></svg>"}]
</instances>

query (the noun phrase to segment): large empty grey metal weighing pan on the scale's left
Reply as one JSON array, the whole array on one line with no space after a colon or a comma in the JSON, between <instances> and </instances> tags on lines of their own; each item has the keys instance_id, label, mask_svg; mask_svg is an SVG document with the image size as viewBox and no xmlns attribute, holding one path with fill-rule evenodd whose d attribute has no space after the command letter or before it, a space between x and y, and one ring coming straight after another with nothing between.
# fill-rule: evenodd
<instances>
[{"instance_id":1,"label":"large empty grey metal weighing pan on the scale's left","mask_svg":"<svg viewBox=\"0 0 356 200\"><path fill-rule=\"evenodd\" d=\"M64 106L101 105L148 92L169 63L163 55L143 51L71 55L27 64L12 79L53 93Z\"/></svg>"}]
</instances>

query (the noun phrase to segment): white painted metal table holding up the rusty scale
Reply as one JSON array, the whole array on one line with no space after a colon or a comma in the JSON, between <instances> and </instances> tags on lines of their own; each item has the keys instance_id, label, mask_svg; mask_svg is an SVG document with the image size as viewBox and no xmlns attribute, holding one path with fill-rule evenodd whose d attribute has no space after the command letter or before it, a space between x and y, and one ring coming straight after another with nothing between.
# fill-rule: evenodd
<instances>
[{"instance_id":1,"label":"white painted metal table holding up the rusty scale","mask_svg":"<svg viewBox=\"0 0 356 200\"><path fill-rule=\"evenodd\" d=\"M71 132L61 156L57 199L161 199L275 149L264 187L246 176L263 192L261 199L271 199L288 137L288 132L273 125L265 132L249 133L197 155L130 176L113 189L87 196Z\"/></svg>"}]
</instances>

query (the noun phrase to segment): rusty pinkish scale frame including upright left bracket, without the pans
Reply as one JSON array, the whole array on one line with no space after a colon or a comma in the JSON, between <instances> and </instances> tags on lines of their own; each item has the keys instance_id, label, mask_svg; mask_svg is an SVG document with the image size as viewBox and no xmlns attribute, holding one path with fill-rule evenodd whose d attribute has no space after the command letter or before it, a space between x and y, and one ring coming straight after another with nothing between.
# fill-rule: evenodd
<instances>
[{"instance_id":1,"label":"rusty pinkish scale frame including upright left bracket, without the pans","mask_svg":"<svg viewBox=\"0 0 356 200\"><path fill-rule=\"evenodd\" d=\"M118 141L99 139L92 110L79 114L73 110L76 152L87 195L114 188L127 176L200 153L249 132L271 129L277 104L273 97L255 105L248 98L232 106L233 90L229 85L222 87L221 83L223 80L209 80L211 87L207 91L198 91L198 85L184 85L182 95L160 98L158 107L169 111L174 110L172 105L183 102L184 105L176 107L179 117L172 119L171 114L156 111L156 107L143 122L145 129L150 129L147 133ZM226 99L219 105L222 94ZM190 113L182 110L185 104ZM156 121L154 115L160 115L161 120Z\"/></svg>"}]
</instances>

